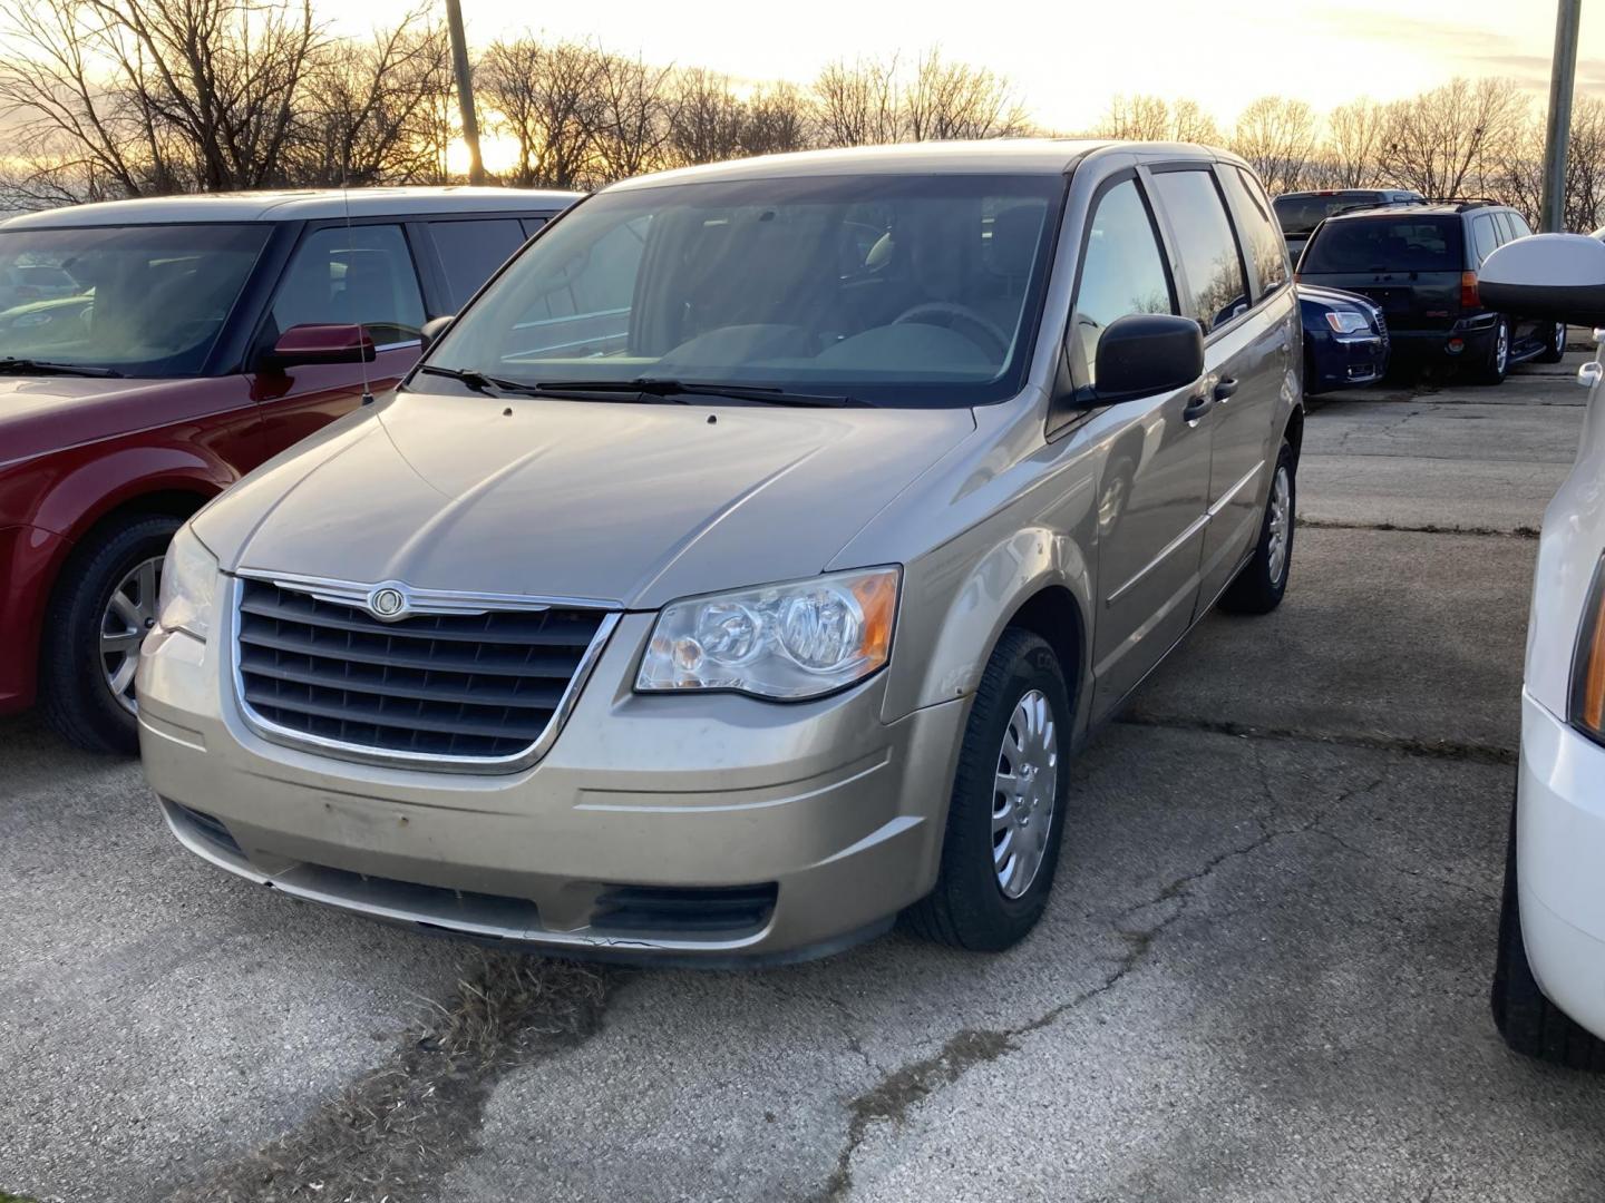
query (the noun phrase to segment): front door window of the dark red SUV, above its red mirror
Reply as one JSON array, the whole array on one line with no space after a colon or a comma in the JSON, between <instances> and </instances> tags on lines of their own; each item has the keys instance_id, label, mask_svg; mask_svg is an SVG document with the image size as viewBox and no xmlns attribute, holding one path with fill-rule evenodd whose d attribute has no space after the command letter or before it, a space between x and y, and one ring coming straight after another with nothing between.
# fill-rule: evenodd
<instances>
[{"instance_id":1,"label":"front door window of the dark red SUV, above its red mirror","mask_svg":"<svg viewBox=\"0 0 1605 1203\"><path fill-rule=\"evenodd\" d=\"M380 346L417 338L424 297L401 226L326 226L295 249L273 300L276 334L345 322Z\"/></svg>"}]
</instances>

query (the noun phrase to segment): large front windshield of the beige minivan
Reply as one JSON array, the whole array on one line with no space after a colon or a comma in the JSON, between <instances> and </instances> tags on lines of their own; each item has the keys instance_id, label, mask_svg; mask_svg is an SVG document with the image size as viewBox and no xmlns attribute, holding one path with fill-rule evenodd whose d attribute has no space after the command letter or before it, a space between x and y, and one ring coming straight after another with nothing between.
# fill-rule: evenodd
<instances>
[{"instance_id":1,"label":"large front windshield of the beige minivan","mask_svg":"<svg viewBox=\"0 0 1605 1203\"><path fill-rule=\"evenodd\" d=\"M854 175L602 192L429 356L501 382L676 380L868 404L1018 393L1061 176ZM414 388L443 388L419 375ZM748 398L753 399L753 398Z\"/></svg>"}]
</instances>

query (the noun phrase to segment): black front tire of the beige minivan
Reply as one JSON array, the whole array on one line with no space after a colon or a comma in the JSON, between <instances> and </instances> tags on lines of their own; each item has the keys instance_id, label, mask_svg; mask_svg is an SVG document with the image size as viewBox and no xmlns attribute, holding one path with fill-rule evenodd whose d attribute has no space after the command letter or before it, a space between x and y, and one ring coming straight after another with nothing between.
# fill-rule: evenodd
<instances>
[{"instance_id":1,"label":"black front tire of the beige minivan","mask_svg":"<svg viewBox=\"0 0 1605 1203\"><path fill-rule=\"evenodd\" d=\"M1046 770L1038 768L1032 780L1035 805L1000 805L1000 768L1011 755L1005 739L1022 733L1026 725L1016 715L1016 707L1029 699L1034 706L1040 738L1026 733L1027 746L1037 744L1043 755L1026 764L1042 764L1051 757L1051 783L1043 786ZM1051 730L1040 722L1048 717ZM953 776L953 796L947 808L947 829L942 840L942 861L937 869L936 889L904 913L904 926L915 935L953 948L1000 953L1019 943L1048 905L1053 877L1059 860L1059 842L1064 837L1066 797L1069 796L1069 747L1071 747L1071 695L1064 685L1064 670L1053 648L1029 630L1008 629L998 640L981 688L976 691L965 727L965 741L958 752L958 772ZM1011 765L1022 768L1019 760ZM1002 810L1002 815L998 813ZM1042 828L1014 826L1022 815L1029 823L1046 818L1046 832L1040 844L1024 844L1024 849L1042 849L1040 863L1024 873L1016 860L1005 858L1003 868L1016 866L1018 876L1000 874L995 852L998 847L1022 847ZM997 832L997 826L1003 831ZM1024 834L1022 834L1024 832ZM1000 844L1000 839L1013 840ZM1018 857L1018 853L1016 853ZM1000 879L1008 876L1008 885Z\"/></svg>"}]
</instances>

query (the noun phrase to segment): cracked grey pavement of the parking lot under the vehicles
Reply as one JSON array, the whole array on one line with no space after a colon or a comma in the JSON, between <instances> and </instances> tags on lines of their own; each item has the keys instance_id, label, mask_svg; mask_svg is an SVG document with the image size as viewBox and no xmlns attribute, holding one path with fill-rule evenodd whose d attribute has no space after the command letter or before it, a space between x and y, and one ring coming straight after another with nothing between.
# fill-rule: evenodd
<instances>
[{"instance_id":1,"label":"cracked grey pavement of the parking lot under the vehicles","mask_svg":"<svg viewBox=\"0 0 1605 1203\"><path fill-rule=\"evenodd\" d=\"M1286 603L1075 767L1042 927L762 972L507 962L178 849L0 722L0 1190L146 1200L1589 1200L1605 1083L1488 978L1576 363L1311 404Z\"/></svg>"}]
</instances>

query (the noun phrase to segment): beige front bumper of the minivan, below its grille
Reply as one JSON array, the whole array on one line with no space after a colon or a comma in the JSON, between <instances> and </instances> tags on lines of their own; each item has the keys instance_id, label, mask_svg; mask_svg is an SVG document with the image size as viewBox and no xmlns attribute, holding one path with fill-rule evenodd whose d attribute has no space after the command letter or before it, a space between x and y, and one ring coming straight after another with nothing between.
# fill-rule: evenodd
<instances>
[{"instance_id":1,"label":"beige front bumper of the minivan, below its grille","mask_svg":"<svg viewBox=\"0 0 1605 1203\"><path fill-rule=\"evenodd\" d=\"M931 889L968 699L883 723L884 674L806 704L636 695L653 619L623 616L547 754L494 776L268 743L220 664L226 616L207 645L159 630L146 775L178 839L244 877L571 953L796 958Z\"/></svg>"}]
</instances>

